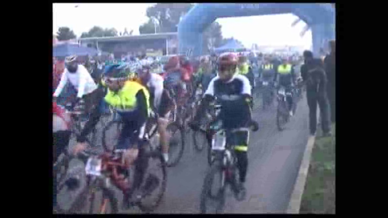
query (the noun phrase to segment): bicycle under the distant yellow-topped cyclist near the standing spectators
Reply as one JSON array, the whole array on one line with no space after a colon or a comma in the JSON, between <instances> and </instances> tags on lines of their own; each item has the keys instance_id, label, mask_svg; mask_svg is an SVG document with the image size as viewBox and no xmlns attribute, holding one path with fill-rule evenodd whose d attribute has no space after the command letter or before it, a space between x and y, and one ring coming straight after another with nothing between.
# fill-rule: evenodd
<instances>
[{"instance_id":1,"label":"bicycle under the distant yellow-topped cyclist near the standing spectators","mask_svg":"<svg viewBox=\"0 0 388 218\"><path fill-rule=\"evenodd\" d=\"M287 101L288 97L292 97L292 91L286 91L284 87L280 87L277 91L277 110L276 110L276 125L279 131L283 131L285 124L289 122L289 103ZM293 100L293 113L296 112L296 100Z\"/></svg>"}]
</instances>

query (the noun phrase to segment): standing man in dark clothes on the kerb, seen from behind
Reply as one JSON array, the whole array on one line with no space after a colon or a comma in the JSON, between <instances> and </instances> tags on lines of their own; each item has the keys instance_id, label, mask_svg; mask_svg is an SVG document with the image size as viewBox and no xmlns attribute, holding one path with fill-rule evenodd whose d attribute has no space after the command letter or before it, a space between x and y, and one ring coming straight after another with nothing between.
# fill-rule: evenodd
<instances>
[{"instance_id":1,"label":"standing man in dark clothes on the kerb, seen from behind","mask_svg":"<svg viewBox=\"0 0 388 218\"><path fill-rule=\"evenodd\" d=\"M330 136L329 105L326 94L327 79L324 66L320 59L314 59L311 51L303 52L305 64L301 67L301 74L306 84L307 103L310 110L310 134L317 130L317 104L321 112L323 136Z\"/></svg>"}]
</instances>

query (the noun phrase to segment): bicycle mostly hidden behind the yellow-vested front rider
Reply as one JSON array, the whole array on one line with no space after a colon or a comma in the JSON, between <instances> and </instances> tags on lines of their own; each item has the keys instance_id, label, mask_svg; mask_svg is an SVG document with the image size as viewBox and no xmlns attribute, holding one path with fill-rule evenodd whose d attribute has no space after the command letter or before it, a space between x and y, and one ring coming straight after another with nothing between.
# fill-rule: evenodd
<instances>
[{"instance_id":1,"label":"bicycle mostly hidden behind the yellow-vested front rider","mask_svg":"<svg viewBox=\"0 0 388 218\"><path fill-rule=\"evenodd\" d=\"M117 140L119 138L119 134L122 130L123 123L121 120L116 119L111 122L109 122L106 127L103 130L103 148L105 151L113 151L115 149L115 145L117 143ZM167 125L167 132L170 131L170 149L169 149L169 156L171 157L167 163L167 167L174 167L178 164L180 159L183 156L184 151L184 130L181 125L179 125L178 122L171 122ZM110 133L111 131L114 131L114 133ZM158 124L157 124L157 118L150 118L147 120L146 124L146 137L147 139L152 140L154 143L151 143L153 146L151 146L152 151L158 151L161 152L161 146L159 144L158 140ZM180 133L180 143L177 141L176 138L179 138ZM113 136L113 140L108 138L109 136ZM154 139L155 138L155 139ZM171 140L173 139L173 140ZM171 146L172 145L172 146ZM176 145L176 146L175 146ZM178 148L177 155L171 154L171 151L176 151L171 149Z\"/></svg>"}]
</instances>

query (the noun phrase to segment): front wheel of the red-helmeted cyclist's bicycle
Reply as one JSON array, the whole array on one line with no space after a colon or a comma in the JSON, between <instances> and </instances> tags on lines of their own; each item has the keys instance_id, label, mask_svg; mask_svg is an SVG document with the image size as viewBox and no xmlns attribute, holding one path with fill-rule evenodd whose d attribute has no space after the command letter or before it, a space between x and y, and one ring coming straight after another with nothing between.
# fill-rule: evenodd
<instances>
[{"instance_id":1,"label":"front wheel of the red-helmeted cyclist's bicycle","mask_svg":"<svg viewBox=\"0 0 388 218\"><path fill-rule=\"evenodd\" d=\"M213 185L216 186L212 190ZM225 205L225 171L220 165L213 165L208 171L201 193L201 213L221 213ZM214 209L214 212L212 211Z\"/></svg>"}]
</instances>

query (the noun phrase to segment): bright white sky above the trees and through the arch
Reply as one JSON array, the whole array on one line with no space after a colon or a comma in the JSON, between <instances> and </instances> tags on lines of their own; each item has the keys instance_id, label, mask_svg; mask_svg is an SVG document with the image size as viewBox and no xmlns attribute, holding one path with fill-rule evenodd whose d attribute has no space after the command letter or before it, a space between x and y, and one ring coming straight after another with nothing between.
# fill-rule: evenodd
<instances>
[{"instance_id":1,"label":"bright white sky above the trees and through the arch","mask_svg":"<svg viewBox=\"0 0 388 218\"><path fill-rule=\"evenodd\" d=\"M148 21L146 10L155 4L53 4L53 33L59 27L67 26L79 37L93 26L116 28L118 32L133 30L139 34L139 26ZM77 6L77 7L76 7ZM304 22L292 27L297 19L292 14L221 18L216 21L222 25L224 38L234 37L246 47L253 43L260 45L298 45L310 48L312 44L311 31L304 37L299 34Z\"/></svg>"}]
</instances>

